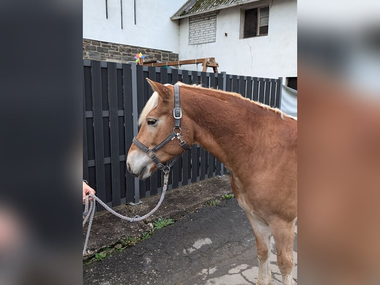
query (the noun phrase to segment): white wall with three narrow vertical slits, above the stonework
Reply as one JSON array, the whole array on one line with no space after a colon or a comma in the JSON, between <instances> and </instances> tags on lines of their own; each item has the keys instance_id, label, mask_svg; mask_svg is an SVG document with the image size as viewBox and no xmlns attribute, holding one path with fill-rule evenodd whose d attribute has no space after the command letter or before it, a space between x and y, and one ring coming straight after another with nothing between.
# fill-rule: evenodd
<instances>
[{"instance_id":1,"label":"white wall with three narrow vertical slits, above the stonework","mask_svg":"<svg viewBox=\"0 0 380 285\"><path fill-rule=\"evenodd\" d=\"M178 53L178 21L170 17L185 0L134 0L123 2L123 29L121 28L121 0L83 0L83 38L131 46L140 46Z\"/></svg>"}]
</instances>

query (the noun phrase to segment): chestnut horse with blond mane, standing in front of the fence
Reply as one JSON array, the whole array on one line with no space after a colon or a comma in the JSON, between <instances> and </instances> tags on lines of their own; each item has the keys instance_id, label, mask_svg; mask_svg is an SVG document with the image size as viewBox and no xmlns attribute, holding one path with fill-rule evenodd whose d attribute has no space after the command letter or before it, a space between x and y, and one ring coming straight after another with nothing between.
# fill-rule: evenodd
<instances>
[{"instance_id":1,"label":"chestnut horse with blond mane, standing in front of the fence","mask_svg":"<svg viewBox=\"0 0 380 285\"><path fill-rule=\"evenodd\" d=\"M153 94L127 154L139 179L170 170L170 161L199 144L231 172L231 186L255 236L259 285L270 285L270 237L284 285L293 285L297 219L297 118L240 94L148 79Z\"/></svg>"}]
</instances>

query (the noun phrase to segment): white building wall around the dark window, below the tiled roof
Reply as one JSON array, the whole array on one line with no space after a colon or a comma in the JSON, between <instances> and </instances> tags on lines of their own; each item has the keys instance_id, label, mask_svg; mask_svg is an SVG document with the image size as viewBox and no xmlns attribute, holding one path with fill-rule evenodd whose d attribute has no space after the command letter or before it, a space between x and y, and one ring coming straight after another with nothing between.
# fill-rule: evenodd
<instances>
[{"instance_id":1,"label":"white building wall around the dark window, below the tiled roof","mask_svg":"<svg viewBox=\"0 0 380 285\"><path fill-rule=\"evenodd\" d=\"M220 10L214 43L189 45L189 18L181 19L180 60L215 57L220 66L218 71L230 74L269 78L297 76L297 0L273 0L267 36L239 38L241 9L235 6ZM196 66L189 65L186 69L196 70ZM202 70L200 65L198 70Z\"/></svg>"}]
</instances>

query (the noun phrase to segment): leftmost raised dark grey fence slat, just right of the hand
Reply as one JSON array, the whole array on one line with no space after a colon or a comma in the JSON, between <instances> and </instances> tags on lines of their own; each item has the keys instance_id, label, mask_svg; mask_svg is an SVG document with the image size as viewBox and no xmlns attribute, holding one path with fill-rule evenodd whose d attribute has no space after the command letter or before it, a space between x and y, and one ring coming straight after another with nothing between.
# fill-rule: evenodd
<instances>
[{"instance_id":1,"label":"leftmost raised dark grey fence slat, just right of the hand","mask_svg":"<svg viewBox=\"0 0 380 285\"><path fill-rule=\"evenodd\" d=\"M102 83L100 62L91 61L92 95L94 104L94 144L95 144L95 175L96 196L106 201L106 180L104 170L104 144L103 144L103 107L102 107ZM104 210L103 206L97 206L98 211Z\"/></svg>"}]
</instances>

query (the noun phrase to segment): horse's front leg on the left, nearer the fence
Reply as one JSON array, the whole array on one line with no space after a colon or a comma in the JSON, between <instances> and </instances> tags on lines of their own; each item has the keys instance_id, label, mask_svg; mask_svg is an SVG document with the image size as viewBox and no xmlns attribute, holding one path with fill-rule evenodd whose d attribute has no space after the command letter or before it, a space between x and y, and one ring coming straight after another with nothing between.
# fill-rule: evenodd
<instances>
[{"instance_id":1,"label":"horse's front leg on the left, nearer the fence","mask_svg":"<svg viewBox=\"0 0 380 285\"><path fill-rule=\"evenodd\" d=\"M248 219L253 227L256 238L257 258L258 258L258 277L256 285L270 285L272 275L269 268L270 255L270 227L255 214L246 212Z\"/></svg>"}]
</instances>

